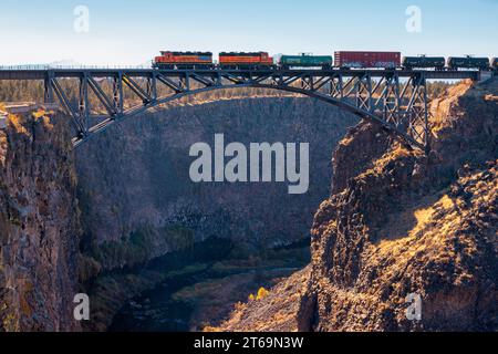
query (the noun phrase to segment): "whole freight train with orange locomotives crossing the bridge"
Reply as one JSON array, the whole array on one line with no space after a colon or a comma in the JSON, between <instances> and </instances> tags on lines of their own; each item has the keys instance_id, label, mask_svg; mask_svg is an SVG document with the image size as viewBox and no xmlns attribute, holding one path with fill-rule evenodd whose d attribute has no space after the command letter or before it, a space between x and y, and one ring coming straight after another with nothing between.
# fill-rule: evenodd
<instances>
[{"instance_id":1,"label":"whole freight train with orange locomotives crossing the bridge","mask_svg":"<svg viewBox=\"0 0 498 354\"><path fill-rule=\"evenodd\" d=\"M221 52L216 63L211 52L160 52L153 61L153 67L160 70L290 70L290 69L388 69L388 70L494 70L498 71L497 59L405 56L400 52L335 52L331 55L281 55L274 60L267 52Z\"/></svg>"}]
</instances>

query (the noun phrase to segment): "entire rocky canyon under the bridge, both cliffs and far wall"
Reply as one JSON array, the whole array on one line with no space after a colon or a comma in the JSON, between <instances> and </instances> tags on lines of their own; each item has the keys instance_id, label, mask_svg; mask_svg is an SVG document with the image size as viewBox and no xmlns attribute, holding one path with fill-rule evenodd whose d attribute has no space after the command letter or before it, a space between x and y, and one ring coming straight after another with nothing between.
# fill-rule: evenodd
<instances>
[{"instance_id":1,"label":"entire rocky canyon under the bridge, both cliffs and far wall","mask_svg":"<svg viewBox=\"0 0 498 354\"><path fill-rule=\"evenodd\" d=\"M76 150L59 113L10 115L0 330L106 331L193 278L172 290L194 299L189 330L497 331L497 97L495 79L435 98L428 155L298 96L186 100ZM190 146L219 133L310 143L308 194L193 183ZM268 294L248 301L260 285ZM79 292L89 323L72 317ZM406 316L411 294L419 321Z\"/></svg>"}]
</instances>

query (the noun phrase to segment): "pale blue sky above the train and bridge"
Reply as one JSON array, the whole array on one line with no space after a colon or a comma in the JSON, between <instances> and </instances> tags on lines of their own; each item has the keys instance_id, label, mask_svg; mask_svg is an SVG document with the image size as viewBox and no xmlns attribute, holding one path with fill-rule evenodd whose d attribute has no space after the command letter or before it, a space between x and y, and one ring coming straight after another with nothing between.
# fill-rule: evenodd
<instances>
[{"instance_id":1,"label":"pale blue sky above the train and bridge","mask_svg":"<svg viewBox=\"0 0 498 354\"><path fill-rule=\"evenodd\" d=\"M0 65L137 65L160 50L498 56L498 0L0 0Z\"/></svg>"}]
</instances>

